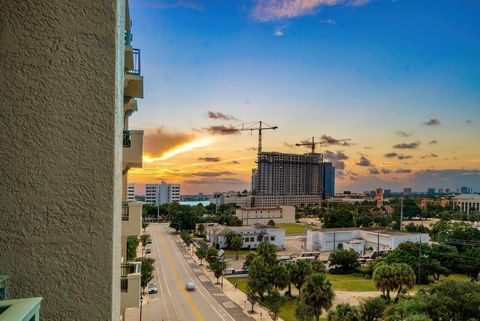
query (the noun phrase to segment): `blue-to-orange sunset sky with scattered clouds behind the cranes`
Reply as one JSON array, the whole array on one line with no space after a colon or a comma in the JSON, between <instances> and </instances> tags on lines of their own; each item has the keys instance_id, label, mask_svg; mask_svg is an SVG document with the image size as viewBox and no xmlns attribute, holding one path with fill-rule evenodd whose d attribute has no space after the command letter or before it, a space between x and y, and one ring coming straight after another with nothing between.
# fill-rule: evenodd
<instances>
[{"instance_id":1,"label":"blue-to-orange sunset sky with scattered clouds behind the cranes","mask_svg":"<svg viewBox=\"0 0 480 321\"><path fill-rule=\"evenodd\" d=\"M264 151L323 141L337 192L480 191L478 0L131 0L130 12L145 96L130 182L249 189L257 134L228 129L261 120L278 126Z\"/></svg>"}]
</instances>

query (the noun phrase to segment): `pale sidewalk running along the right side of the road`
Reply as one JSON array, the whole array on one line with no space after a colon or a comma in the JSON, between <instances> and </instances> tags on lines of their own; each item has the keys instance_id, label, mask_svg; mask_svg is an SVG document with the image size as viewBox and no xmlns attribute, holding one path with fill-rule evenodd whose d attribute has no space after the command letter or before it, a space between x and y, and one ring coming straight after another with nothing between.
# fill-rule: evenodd
<instances>
[{"instance_id":1,"label":"pale sidewalk running along the right side of the road","mask_svg":"<svg viewBox=\"0 0 480 321\"><path fill-rule=\"evenodd\" d=\"M178 246L183 246L189 253L192 253L191 249L187 248L185 244L178 245ZM200 264L200 260L197 258L195 254L192 255L192 259L197 263ZM212 284L214 284L216 287L219 289L221 288L220 284L215 284L217 281L213 273L207 268L208 263L203 260L203 265L199 265L198 267L203 270L205 275L210 279ZM221 280L220 280L221 282ZM273 321L273 319L270 317L270 313L268 312L267 309L262 307L260 304L256 303L254 306L255 313L251 314L250 310L252 308L252 305L250 302L247 300L247 295L240 291L239 289L236 289L232 283L228 281L227 278L224 278L223 281L223 293L233 302L238 304L245 313L247 313L250 317L254 318L255 320L258 321ZM283 321L281 318L277 319L278 321Z\"/></svg>"}]
</instances>

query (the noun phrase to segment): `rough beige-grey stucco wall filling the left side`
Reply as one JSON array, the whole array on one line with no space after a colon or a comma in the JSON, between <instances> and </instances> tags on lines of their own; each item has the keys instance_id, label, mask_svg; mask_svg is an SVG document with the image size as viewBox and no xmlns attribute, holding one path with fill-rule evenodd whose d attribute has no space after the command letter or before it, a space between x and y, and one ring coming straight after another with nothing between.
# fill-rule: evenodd
<instances>
[{"instance_id":1,"label":"rough beige-grey stucco wall filling the left side","mask_svg":"<svg viewBox=\"0 0 480 321\"><path fill-rule=\"evenodd\" d=\"M118 320L124 1L0 8L0 274L43 320Z\"/></svg>"}]
</instances>

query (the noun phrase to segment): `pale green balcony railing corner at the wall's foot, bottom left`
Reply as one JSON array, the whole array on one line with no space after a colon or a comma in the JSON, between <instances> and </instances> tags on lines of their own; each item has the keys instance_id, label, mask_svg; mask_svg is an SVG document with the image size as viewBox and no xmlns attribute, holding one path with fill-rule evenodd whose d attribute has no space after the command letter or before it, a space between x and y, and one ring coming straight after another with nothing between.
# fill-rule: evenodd
<instances>
[{"instance_id":1,"label":"pale green balcony railing corner at the wall's foot, bottom left","mask_svg":"<svg viewBox=\"0 0 480 321\"><path fill-rule=\"evenodd\" d=\"M0 320L39 321L42 298L0 301Z\"/></svg>"}]
</instances>

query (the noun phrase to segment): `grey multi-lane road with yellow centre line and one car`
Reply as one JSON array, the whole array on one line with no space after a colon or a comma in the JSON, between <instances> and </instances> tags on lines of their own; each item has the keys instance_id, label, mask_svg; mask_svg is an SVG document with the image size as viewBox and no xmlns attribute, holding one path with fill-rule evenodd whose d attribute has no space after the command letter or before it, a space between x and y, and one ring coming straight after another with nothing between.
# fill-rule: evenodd
<instances>
[{"instance_id":1,"label":"grey multi-lane road with yellow centre line and one car","mask_svg":"<svg viewBox=\"0 0 480 321\"><path fill-rule=\"evenodd\" d=\"M168 224L150 224L154 279L158 293L143 305L143 321L250 321L243 310L211 284L185 247L170 235ZM192 281L197 289L186 291Z\"/></svg>"}]
</instances>

